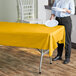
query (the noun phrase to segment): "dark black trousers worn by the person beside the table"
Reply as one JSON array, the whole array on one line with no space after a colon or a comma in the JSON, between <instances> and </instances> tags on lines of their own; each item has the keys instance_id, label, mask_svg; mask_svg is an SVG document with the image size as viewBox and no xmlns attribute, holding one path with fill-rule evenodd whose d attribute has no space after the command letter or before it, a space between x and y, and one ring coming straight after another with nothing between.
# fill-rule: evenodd
<instances>
[{"instance_id":1,"label":"dark black trousers worn by the person beside the table","mask_svg":"<svg viewBox=\"0 0 76 76\"><path fill-rule=\"evenodd\" d=\"M71 32L72 32L72 21L70 16L68 17L56 17L59 25L65 27L65 59L69 58L71 55ZM57 55L62 56L64 44L58 44Z\"/></svg>"}]
</instances>

